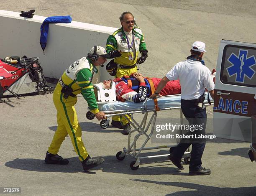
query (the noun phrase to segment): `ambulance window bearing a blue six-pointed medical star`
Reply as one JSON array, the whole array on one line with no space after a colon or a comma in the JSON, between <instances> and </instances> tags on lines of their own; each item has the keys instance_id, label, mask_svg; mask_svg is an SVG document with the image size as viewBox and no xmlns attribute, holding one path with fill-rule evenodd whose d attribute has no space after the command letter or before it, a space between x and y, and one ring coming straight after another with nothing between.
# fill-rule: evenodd
<instances>
[{"instance_id":1,"label":"ambulance window bearing a blue six-pointed medical star","mask_svg":"<svg viewBox=\"0 0 256 196\"><path fill-rule=\"evenodd\" d=\"M224 84L256 87L256 48L225 46L220 80Z\"/></svg>"}]
</instances>

